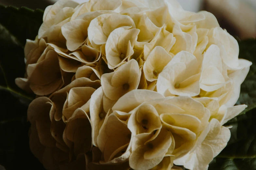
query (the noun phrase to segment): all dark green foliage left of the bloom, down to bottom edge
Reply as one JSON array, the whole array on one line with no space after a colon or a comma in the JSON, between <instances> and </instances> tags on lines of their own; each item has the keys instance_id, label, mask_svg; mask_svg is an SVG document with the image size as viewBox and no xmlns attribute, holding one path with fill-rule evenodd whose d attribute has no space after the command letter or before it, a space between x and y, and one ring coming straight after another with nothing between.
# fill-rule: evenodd
<instances>
[{"instance_id":1,"label":"all dark green foliage left of the bloom, down to bottom edge","mask_svg":"<svg viewBox=\"0 0 256 170\"><path fill-rule=\"evenodd\" d=\"M44 169L29 149L26 112L34 95L14 81L24 77L24 45L37 35L42 17L38 10L0 6L0 164L6 170Z\"/></svg>"}]
</instances>

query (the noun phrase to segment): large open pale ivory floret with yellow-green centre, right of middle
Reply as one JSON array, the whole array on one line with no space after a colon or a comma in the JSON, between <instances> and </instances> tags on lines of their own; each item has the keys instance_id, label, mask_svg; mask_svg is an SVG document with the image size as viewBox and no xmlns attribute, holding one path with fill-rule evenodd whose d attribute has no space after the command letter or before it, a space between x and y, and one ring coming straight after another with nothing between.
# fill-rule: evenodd
<instances>
[{"instance_id":1,"label":"large open pale ivory floret with yellow-green centre, right of middle","mask_svg":"<svg viewBox=\"0 0 256 170\"><path fill-rule=\"evenodd\" d=\"M200 93L199 63L194 55L181 51L158 76L157 91L162 95L196 96Z\"/></svg>"}]
</instances>

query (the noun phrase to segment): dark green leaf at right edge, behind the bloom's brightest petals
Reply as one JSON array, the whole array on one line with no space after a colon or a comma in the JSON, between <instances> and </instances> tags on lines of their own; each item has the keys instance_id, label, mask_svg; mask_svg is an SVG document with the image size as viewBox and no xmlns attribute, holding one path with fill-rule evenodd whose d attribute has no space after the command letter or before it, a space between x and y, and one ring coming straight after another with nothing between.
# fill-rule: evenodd
<instances>
[{"instance_id":1,"label":"dark green leaf at right edge, behind the bloom's brightest petals","mask_svg":"<svg viewBox=\"0 0 256 170\"><path fill-rule=\"evenodd\" d=\"M250 71L241 85L241 92L237 104L246 104L248 107L241 113L256 107L256 40L250 39L239 42L239 58L252 62Z\"/></svg>"}]
</instances>

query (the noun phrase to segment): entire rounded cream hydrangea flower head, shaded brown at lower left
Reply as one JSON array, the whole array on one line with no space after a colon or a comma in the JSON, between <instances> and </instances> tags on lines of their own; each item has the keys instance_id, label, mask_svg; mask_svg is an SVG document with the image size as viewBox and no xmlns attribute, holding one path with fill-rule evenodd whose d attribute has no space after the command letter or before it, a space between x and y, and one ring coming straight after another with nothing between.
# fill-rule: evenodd
<instances>
[{"instance_id":1,"label":"entire rounded cream hydrangea flower head, shaded brown at lower left","mask_svg":"<svg viewBox=\"0 0 256 170\"><path fill-rule=\"evenodd\" d=\"M206 170L251 62L213 14L176 0L59 0L25 46L16 84L47 170Z\"/></svg>"}]
</instances>

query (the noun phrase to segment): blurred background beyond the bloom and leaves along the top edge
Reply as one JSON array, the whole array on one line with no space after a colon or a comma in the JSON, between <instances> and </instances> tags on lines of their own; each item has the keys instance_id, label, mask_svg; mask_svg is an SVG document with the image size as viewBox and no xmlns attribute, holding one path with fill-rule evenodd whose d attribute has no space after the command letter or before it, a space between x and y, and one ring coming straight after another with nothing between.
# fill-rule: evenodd
<instances>
[{"instance_id":1,"label":"blurred background beyond the bloom and leaves along the top edge","mask_svg":"<svg viewBox=\"0 0 256 170\"><path fill-rule=\"evenodd\" d=\"M32 9L54 4L58 0L0 0L5 6ZM84 2L85 0L74 0ZM206 10L213 13L220 26L237 38L256 37L256 0L178 0L185 10L197 12Z\"/></svg>"}]
</instances>

